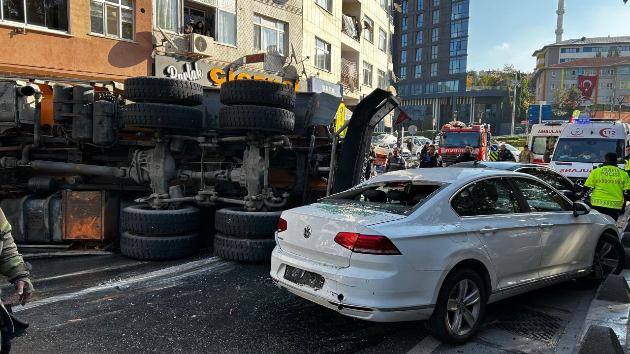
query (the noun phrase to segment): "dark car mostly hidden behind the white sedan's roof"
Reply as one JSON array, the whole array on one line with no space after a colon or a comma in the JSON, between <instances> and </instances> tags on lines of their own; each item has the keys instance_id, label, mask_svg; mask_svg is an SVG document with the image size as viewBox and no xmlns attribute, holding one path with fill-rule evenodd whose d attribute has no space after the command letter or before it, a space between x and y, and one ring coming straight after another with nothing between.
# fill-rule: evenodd
<instances>
[{"instance_id":1,"label":"dark car mostly hidden behind the white sedan's roof","mask_svg":"<svg viewBox=\"0 0 630 354\"><path fill-rule=\"evenodd\" d=\"M536 176L541 180L546 181L549 185L553 186L553 188L556 188L564 193L564 195L573 202L580 197L580 193L578 192L582 190L581 185L573 183L555 169L539 164L515 163L512 161L471 161L452 164L449 167L496 168L505 169L506 171L531 174L532 176Z\"/></svg>"}]
</instances>

